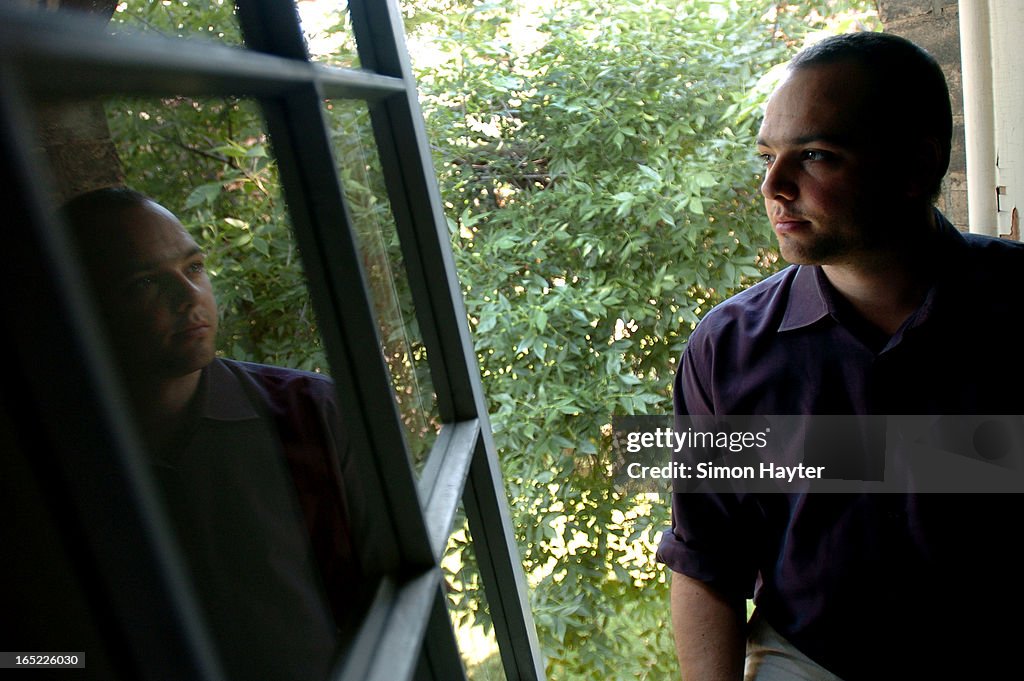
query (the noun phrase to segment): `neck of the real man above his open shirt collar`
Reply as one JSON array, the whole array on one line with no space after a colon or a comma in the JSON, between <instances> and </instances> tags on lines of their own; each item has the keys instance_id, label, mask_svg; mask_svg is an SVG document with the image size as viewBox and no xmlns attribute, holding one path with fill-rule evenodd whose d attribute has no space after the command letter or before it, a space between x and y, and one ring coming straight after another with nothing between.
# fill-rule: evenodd
<instances>
[{"instance_id":1,"label":"neck of the real man above his open shirt collar","mask_svg":"<svg viewBox=\"0 0 1024 681\"><path fill-rule=\"evenodd\" d=\"M937 227L929 209L926 224L904 233L894 248L822 265L828 282L864 321L892 336L921 306L933 281L929 235ZM905 228L905 227L897 227Z\"/></svg>"}]
</instances>

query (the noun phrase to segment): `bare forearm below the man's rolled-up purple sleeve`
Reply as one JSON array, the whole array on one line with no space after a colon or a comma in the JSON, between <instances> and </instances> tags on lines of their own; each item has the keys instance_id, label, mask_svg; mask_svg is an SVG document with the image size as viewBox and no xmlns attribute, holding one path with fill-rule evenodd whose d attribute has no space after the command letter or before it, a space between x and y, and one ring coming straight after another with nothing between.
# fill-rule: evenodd
<instances>
[{"instance_id":1,"label":"bare forearm below the man's rolled-up purple sleeve","mask_svg":"<svg viewBox=\"0 0 1024 681\"><path fill-rule=\"evenodd\" d=\"M730 602L699 580L672 573L672 625L683 681L740 681L743 603Z\"/></svg>"}]
</instances>

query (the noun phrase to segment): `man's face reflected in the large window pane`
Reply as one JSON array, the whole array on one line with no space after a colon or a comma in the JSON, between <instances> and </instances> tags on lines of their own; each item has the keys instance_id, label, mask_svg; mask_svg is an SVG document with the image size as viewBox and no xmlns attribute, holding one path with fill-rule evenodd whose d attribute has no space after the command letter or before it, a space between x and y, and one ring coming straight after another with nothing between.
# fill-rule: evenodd
<instances>
[{"instance_id":1,"label":"man's face reflected in the large window pane","mask_svg":"<svg viewBox=\"0 0 1024 681\"><path fill-rule=\"evenodd\" d=\"M167 380L206 367L217 304L203 253L177 218L145 203L94 237L85 260L127 378Z\"/></svg>"}]
</instances>

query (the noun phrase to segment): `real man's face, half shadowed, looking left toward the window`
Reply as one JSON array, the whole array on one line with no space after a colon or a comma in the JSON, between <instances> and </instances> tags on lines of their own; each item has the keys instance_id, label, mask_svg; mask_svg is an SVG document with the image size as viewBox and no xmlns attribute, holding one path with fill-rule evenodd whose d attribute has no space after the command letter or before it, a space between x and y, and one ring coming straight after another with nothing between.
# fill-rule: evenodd
<instances>
[{"instance_id":1,"label":"real man's face, half shadowed, looking left toward the window","mask_svg":"<svg viewBox=\"0 0 1024 681\"><path fill-rule=\"evenodd\" d=\"M769 99L761 194L788 262L850 264L894 238L907 201L896 167L905 150L872 134L876 103L852 63L790 72Z\"/></svg>"}]
</instances>

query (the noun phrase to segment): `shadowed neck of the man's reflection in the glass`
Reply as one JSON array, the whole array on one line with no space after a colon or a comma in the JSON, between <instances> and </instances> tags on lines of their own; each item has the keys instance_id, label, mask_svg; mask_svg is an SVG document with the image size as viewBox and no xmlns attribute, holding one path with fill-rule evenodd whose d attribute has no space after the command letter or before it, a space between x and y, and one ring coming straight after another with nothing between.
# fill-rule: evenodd
<instances>
[{"instance_id":1,"label":"shadowed neck of the man's reflection in the glass","mask_svg":"<svg viewBox=\"0 0 1024 681\"><path fill-rule=\"evenodd\" d=\"M160 453L188 429L202 371L172 379L133 381L129 386L146 445Z\"/></svg>"}]
</instances>

